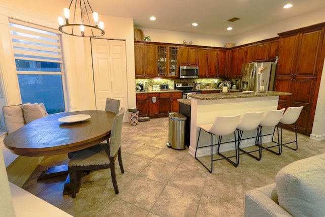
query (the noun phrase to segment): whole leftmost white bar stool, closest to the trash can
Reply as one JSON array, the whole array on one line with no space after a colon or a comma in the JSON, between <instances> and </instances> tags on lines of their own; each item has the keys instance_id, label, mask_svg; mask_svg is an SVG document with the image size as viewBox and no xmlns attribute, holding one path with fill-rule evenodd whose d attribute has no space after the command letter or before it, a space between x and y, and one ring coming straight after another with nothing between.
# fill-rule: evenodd
<instances>
[{"instance_id":1,"label":"whole leftmost white bar stool, closest to the trash can","mask_svg":"<svg viewBox=\"0 0 325 217\"><path fill-rule=\"evenodd\" d=\"M239 120L240 120L240 114L234 115L234 116L217 116L213 122L213 124L210 125L201 125L200 127L200 132L199 132L199 137L198 137L198 143L197 143L197 148L195 151L195 158L205 167L207 168L207 170L211 173L213 166L212 163L213 161L218 161L218 160L227 160L230 163L232 163L235 167L238 166L238 161L239 161L239 156L237 154L237 144L236 144L236 133L235 130L239 124ZM199 140L200 140L200 135L201 135L201 130L204 130L205 132L207 132L208 134L211 135L211 145L206 145L206 146L202 146L202 147L198 147L199 146ZM221 144L221 139L222 136L226 136L226 135L230 135L231 133L234 133L234 137L235 137L235 152L236 155L235 156L231 156L231 157L225 157L222 153L219 152L219 148L220 148L220 144ZM217 135L219 136L218 138L218 143L217 144L213 144L213 135ZM217 153L219 154L219 156L221 156L221 159L213 159L213 146L217 145ZM205 147L209 147L211 146L211 170L203 163L201 162L198 158L197 158L197 151L198 148L205 148ZM230 158L234 158L236 157L236 162L230 160Z\"/></svg>"}]
</instances>

